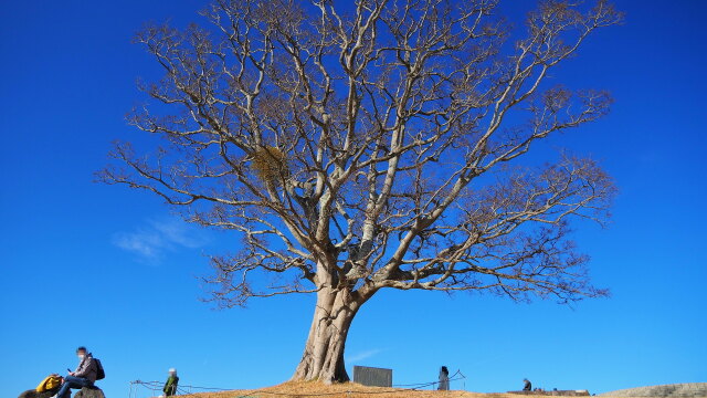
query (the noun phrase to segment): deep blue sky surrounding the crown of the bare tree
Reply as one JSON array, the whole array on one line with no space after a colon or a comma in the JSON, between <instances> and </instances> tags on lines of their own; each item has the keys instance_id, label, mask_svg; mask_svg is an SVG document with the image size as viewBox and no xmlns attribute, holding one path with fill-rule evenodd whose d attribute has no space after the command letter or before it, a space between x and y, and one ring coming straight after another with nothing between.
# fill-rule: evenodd
<instances>
[{"instance_id":1,"label":"deep blue sky surrounding the crown of the bare tree","mask_svg":"<svg viewBox=\"0 0 707 398\"><path fill-rule=\"evenodd\" d=\"M504 9L518 18L519 4ZM0 394L14 397L101 357L108 397L128 381L250 388L287 379L310 323L308 296L213 311L204 253L236 237L184 226L146 192L92 182L110 142L141 139L124 115L158 72L130 44L145 21L199 20L201 1L3 1L0 6ZM592 392L707 381L707 2L618 0L623 27L593 36L553 78L610 90L611 115L557 145L602 160L621 193L608 230L582 227L612 297L552 302L383 292L355 321L348 366L426 381L440 365L466 388L524 377ZM524 6L525 7L525 6ZM461 385L453 385L460 388Z\"/></svg>"}]
</instances>

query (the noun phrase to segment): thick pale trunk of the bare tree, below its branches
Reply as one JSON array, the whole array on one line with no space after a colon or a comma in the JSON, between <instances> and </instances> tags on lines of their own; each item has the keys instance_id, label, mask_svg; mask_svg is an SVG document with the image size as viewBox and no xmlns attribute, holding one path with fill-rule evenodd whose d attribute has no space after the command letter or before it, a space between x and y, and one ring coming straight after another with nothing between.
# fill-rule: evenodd
<instances>
[{"instance_id":1,"label":"thick pale trunk of the bare tree, below its branches","mask_svg":"<svg viewBox=\"0 0 707 398\"><path fill-rule=\"evenodd\" d=\"M293 380L348 381L344 348L354 316L361 306L358 294L347 289L317 292L317 306L302 360Z\"/></svg>"}]
</instances>

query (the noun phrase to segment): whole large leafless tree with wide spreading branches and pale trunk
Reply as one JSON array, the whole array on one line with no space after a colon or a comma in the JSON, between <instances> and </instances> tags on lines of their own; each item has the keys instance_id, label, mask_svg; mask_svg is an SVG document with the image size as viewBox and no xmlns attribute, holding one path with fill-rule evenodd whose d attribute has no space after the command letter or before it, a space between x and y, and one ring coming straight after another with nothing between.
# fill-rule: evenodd
<instances>
[{"instance_id":1,"label":"whole large leafless tree with wide spreading branches and pale trunk","mask_svg":"<svg viewBox=\"0 0 707 398\"><path fill-rule=\"evenodd\" d=\"M621 13L544 1L525 33L495 0L218 0L208 28L138 34L165 70L101 172L243 237L213 256L213 300L315 293L294 379L348 380L344 348L384 287L571 302L604 295L568 220L606 220L612 180L590 159L519 164L595 121L604 92L544 80ZM520 39L517 36L523 35Z\"/></svg>"}]
</instances>

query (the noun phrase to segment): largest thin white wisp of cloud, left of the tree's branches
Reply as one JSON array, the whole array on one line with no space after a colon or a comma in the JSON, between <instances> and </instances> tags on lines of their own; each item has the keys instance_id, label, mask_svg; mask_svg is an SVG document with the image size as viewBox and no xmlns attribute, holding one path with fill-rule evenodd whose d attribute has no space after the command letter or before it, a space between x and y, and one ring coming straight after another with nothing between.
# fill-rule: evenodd
<instances>
[{"instance_id":1,"label":"largest thin white wisp of cloud, left of the tree's branches","mask_svg":"<svg viewBox=\"0 0 707 398\"><path fill-rule=\"evenodd\" d=\"M178 219L149 220L133 232L113 235L113 244L150 262L159 260L166 252L197 249L208 241L203 230Z\"/></svg>"}]
</instances>

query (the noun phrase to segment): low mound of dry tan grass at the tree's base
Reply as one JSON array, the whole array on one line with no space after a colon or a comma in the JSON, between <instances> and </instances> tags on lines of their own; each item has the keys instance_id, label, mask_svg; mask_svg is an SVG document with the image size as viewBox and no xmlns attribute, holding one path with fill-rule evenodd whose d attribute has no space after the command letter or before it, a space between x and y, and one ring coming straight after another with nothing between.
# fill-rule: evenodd
<instances>
[{"instance_id":1,"label":"low mound of dry tan grass at the tree's base","mask_svg":"<svg viewBox=\"0 0 707 398\"><path fill-rule=\"evenodd\" d=\"M468 391L407 390L400 388L367 387L355 383L325 385L316 381L291 381L257 390L233 390L194 394L192 398L521 398L513 394L479 394ZM547 396L544 396L547 397Z\"/></svg>"}]
</instances>

